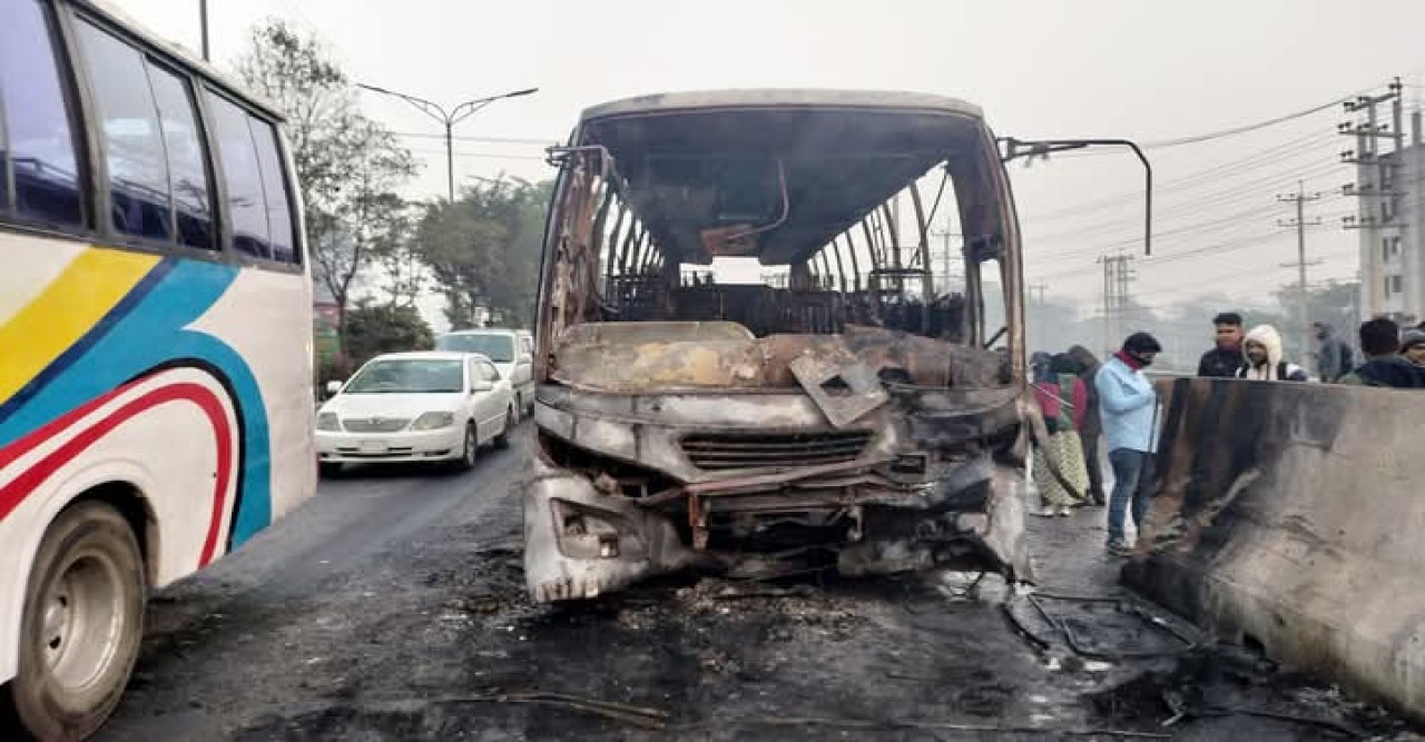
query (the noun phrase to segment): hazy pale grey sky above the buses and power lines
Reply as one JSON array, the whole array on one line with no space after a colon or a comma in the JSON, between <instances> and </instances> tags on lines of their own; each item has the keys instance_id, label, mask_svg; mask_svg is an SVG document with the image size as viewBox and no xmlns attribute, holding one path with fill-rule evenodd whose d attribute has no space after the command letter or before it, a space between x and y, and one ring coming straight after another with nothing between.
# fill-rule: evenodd
<instances>
[{"instance_id":1,"label":"hazy pale grey sky above the buses and power lines","mask_svg":"<svg viewBox=\"0 0 1425 742\"><path fill-rule=\"evenodd\" d=\"M197 0L115 0L165 37L198 47ZM1425 1L1378 0L1362 14L1327 0L923 0L673 3L610 0L211 0L214 58L241 53L248 27L278 16L316 31L352 78L440 103L539 87L460 125L459 178L550 177L544 140L579 111L626 95L720 87L842 87L955 95L1000 135L1130 137L1144 142L1301 111L1392 75L1425 77ZM1411 105L1419 98L1409 87ZM412 195L445 192L437 127L400 101L366 98L428 167ZM1406 115L1408 118L1408 115ZM1295 272L1292 214L1275 195L1307 181L1312 279L1357 271L1340 228L1352 199L1332 189L1340 108L1250 135L1157 148L1160 235L1137 261L1139 296L1167 305L1204 292L1267 298ZM494 141L490 141L494 140ZM516 140L516 141L506 141ZM1221 167L1230 162L1238 167ZM1207 172L1204 172L1207 171ZM1136 251L1141 171L1130 155L1066 155L1013 165L1026 265L1050 295L1097 302L1094 258Z\"/></svg>"}]
</instances>

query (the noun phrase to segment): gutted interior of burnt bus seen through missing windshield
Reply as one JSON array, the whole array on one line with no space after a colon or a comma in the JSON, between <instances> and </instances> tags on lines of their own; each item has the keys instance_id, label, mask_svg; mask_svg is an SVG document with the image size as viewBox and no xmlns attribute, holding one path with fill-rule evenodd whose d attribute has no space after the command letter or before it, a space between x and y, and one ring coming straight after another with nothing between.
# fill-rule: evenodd
<instances>
[{"instance_id":1,"label":"gutted interior of burnt bus seen through missing windshield","mask_svg":"<svg viewBox=\"0 0 1425 742\"><path fill-rule=\"evenodd\" d=\"M546 255L553 306L540 360L583 322L1009 340L1005 296L1017 279L1000 258L1012 215L995 142L975 117L795 107L610 115L587 120L554 157L563 239ZM728 281L720 258L755 258L764 271Z\"/></svg>"}]
</instances>

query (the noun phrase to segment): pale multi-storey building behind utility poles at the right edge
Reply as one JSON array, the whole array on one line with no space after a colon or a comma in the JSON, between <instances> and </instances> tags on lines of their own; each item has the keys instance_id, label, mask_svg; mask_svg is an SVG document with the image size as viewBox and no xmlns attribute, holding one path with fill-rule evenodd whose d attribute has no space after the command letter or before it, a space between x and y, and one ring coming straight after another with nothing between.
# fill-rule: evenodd
<instances>
[{"instance_id":1,"label":"pale multi-storey building behind utility poles at the right edge","mask_svg":"<svg viewBox=\"0 0 1425 742\"><path fill-rule=\"evenodd\" d=\"M1348 221L1361 249L1361 319L1385 316L1414 325L1425 318L1425 145L1421 113L1411 115L1411 140L1357 157L1359 212Z\"/></svg>"}]
</instances>

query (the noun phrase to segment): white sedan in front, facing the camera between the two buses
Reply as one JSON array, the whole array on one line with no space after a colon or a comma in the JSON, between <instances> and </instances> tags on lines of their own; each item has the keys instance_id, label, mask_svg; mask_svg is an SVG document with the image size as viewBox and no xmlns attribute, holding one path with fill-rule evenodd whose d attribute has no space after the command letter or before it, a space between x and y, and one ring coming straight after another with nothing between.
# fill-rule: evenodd
<instances>
[{"instance_id":1,"label":"white sedan in front, facing the camera between the two buses","mask_svg":"<svg viewBox=\"0 0 1425 742\"><path fill-rule=\"evenodd\" d=\"M509 446L510 382L475 353L388 353L366 362L316 413L323 474L342 464L475 466L480 446Z\"/></svg>"}]
</instances>

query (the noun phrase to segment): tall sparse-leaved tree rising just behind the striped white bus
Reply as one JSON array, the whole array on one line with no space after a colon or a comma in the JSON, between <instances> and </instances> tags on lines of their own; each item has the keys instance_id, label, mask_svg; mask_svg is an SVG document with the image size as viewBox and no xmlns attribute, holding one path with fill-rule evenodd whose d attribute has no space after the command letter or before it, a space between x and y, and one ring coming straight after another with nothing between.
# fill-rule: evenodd
<instances>
[{"instance_id":1,"label":"tall sparse-leaved tree rising just behind the striped white bus","mask_svg":"<svg viewBox=\"0 0 1425 742\"><path fill-rule=\"evenodd\" d=\"M361 114L346 74L322 44L281 20L252 28L238 74L288 118L312 272L332 293L345 346L353 286L409 229L402 221L409 205L395 191L416 174L415 160L395 134Z\"/></svg>"}]
</instances>

